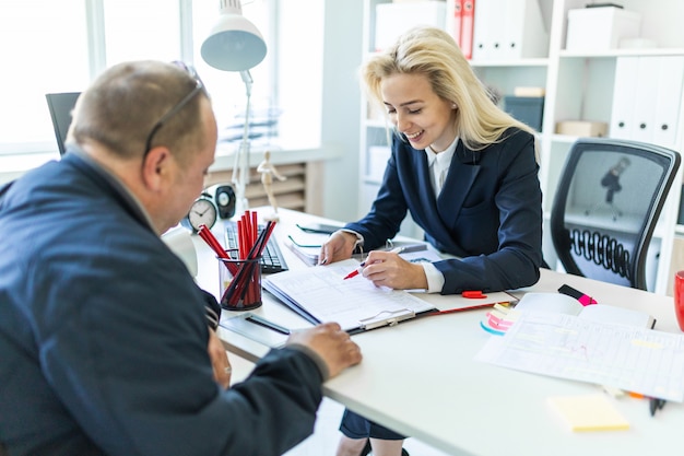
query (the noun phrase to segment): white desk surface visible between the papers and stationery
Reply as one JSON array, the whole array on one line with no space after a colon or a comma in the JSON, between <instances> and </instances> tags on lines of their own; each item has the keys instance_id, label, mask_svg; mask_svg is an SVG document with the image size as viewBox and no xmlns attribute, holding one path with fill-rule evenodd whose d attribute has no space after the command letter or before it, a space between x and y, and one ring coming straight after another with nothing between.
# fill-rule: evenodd
<instances>
[{"instance_id":1,"label":"white desk surface visible between the papers and stationery","mask_svg":"<svg viewBox=\"0 0 684 456\"><path fill-rule=\"evenodd\" d=\"M286 210L281 210L281 217L275 231L279 239L297 231L294 222L319 220ZM215 230L222 239L221 226ZM196 239L196 247L198 282L217 293L216 259L201 239ZM306 267L282 242L281 247L291 268ZM542 270L534 287L514 294L556 292L564 283L600 303L648 311L658 319L657 329L680 331L669 296L549 270ZM285 326L307 326L268 293L263 301L256 313ZM479 326L485 312L432 316L353 336L364 361L327 382L326 396L453 455L682 454L682 404L669 402L651 418L647 400L611 398L629 421L629 430L569 431L546 400L552 396L598 393L601 388L475 361L475 354L493 337ZM221 330L220 336L229 350L247 359L255 360L269 350L228 330Z\"/></svg>"}]
</instances>

